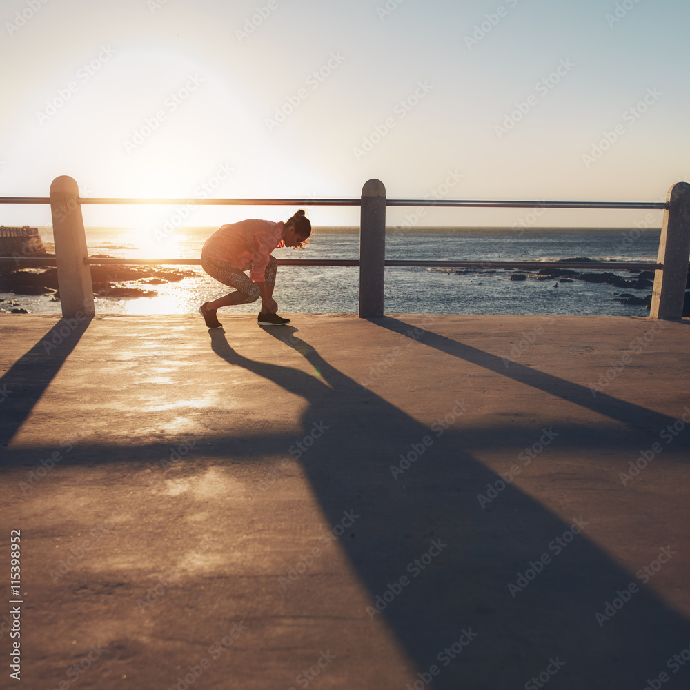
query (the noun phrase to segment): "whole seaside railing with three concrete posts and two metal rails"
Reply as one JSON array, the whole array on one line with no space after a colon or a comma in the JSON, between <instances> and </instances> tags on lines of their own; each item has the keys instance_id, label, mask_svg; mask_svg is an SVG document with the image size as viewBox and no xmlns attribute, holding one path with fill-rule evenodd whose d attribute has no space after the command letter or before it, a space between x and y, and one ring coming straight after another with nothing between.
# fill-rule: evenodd
<instances>
[{"instance_id":1,"label":"whole seaside railing with three concrete posts and two metal rails","mask_svg":"<svg viewBox=\"0 0 690 690\"><path fill-rule=\"evenodd\" d=\"M89 266L96 264L188 265L199 266L201 259L103 259L88 256L81 206L84 204L153 204L210 206L359 206L359 259L278 259L284 266L359 266L359 316L380 317L384 306L384 268L386 266L425 266L446 268L635 268L655 270L651 316L678 319L682 315L690 259L690 184L679 182L669 190L667 201L485 201L462 199L386 199L386 189L377 179L362 188L359 199L139 199L81 198L79 186L71 177L57 177L50 197L0 197L0 204L50 204L55 239L55 257L0 257L0 265L57 266L63 316L76 312L94 315L95 307ZM387 206L442 206L457 208L597 208L664 210L657 262L525 262L525 261L422 261L385 258Z\"/></svg>"}]
</instances>

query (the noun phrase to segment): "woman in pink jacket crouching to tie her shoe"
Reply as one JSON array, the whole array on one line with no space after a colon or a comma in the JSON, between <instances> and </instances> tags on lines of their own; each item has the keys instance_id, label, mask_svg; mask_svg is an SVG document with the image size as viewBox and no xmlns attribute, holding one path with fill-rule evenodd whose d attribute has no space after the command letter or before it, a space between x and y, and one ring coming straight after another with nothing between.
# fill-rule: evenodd
<instances>
[{"instance_id":1,"label":"woman in pink jacket crouching to tie her shoe","mask_svg":"<svg viewBox=\"0 0 690 690\"><path fill-rule=\"evenodd\" d=\"M311 235L311 222L301 208L286 223L243 220L222 226L201 248L201 268L235 290L199 307L208 328L221 328L216 311L221 306L256 302L261 297L259 326L282 326L290 319L279 317L273 299L277 261L276 247L302 248ZM244 271L249 271L249 276Z\"/></svg>"}]
</instances>

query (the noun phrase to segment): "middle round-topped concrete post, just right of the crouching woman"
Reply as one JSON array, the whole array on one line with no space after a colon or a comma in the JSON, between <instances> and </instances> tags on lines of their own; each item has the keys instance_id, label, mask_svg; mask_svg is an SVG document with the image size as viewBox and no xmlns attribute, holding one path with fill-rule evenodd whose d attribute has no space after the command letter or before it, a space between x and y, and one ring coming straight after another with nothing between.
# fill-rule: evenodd
<instances>
[{"instance_id":1,"label":"middle round-topped concrete post, just right of the crouching woman","mask_svg":"<svg viewBox=\"0 0 690 690\"><path fill-rule=\"evenodd\" d=\"M362 187L359 220L359 318L384 315L386 187L370 179Z\"/></svg>"}]
</instances>

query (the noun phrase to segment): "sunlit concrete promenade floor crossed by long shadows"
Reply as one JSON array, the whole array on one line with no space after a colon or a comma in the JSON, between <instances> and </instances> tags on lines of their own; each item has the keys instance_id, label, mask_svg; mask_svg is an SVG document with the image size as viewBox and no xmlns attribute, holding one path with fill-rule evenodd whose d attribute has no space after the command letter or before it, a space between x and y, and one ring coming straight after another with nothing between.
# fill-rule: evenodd
<instances>
[{"instance_id":1,"label":"sunlit concrete promenade floor crossed by long shadows","mask_svg":"<svg viewBox=\"0 0 690 690\"><path fill-rule=\"evenodd\" d=\"M690 687L688 319L219 317L0 315L0 687Z\"/></svg>"}]
</instances>

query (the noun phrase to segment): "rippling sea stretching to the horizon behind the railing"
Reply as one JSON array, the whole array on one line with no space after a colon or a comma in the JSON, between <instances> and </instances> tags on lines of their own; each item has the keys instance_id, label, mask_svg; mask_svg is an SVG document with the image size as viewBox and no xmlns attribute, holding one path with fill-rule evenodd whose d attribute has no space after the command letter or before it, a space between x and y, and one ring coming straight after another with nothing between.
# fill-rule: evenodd
<instances>
[{"instance_id":1,"label":"rippling sea stretching to the horizon behind the railing","mask_svg":"<svg viewBox=\"0 0 690 690\"><path fill-rule=\"evenodd\" d=\"M178 228L166 235L131 228L87 228L90 255L122 258L198 258L201 246L217 228ZM43 243L53 250L51 228L39 228ZM582 228L414 228L386 230L387 259L446 259L489 261L521 259L538 262L571 257L654 262L660 230ZM277 249L276 258L357 259L357 228L315 228L302 250ZM226 292L225 286L201 270L193 277L160 285L128 284L156 290L156 297L96 298L99 314L188 314ZM538 268L538 267L536 267ZM564 268L567 268L565 266ZM596 270L605 270L601 266ZM512 269L386 268L386 313L624 315L649 314L643 305L615 302L618 293L644 297L647 290L626 290L607 284L558 282L556 279L515 282ZM531 273L531 272L527 272ZM627 270L616 275L634 277ZM278 313L357 313L359 268L349 266L279 266L274 292ZM3 311L18 306L30 313L60 313L50 296L0 294ZM228 307L225 311L255 313L258 304ZM222 313L222 312L221 312Z\"/></svg>"}]
</instances>

